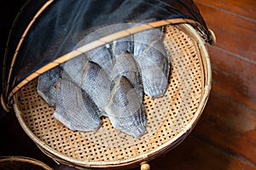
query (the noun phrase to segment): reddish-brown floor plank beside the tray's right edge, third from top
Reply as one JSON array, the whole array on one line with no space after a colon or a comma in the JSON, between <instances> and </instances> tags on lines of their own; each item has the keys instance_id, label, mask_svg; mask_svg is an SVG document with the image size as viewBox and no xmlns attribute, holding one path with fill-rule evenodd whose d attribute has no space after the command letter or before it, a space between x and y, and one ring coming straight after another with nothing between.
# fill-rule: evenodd
<instances>
[{"instance_id":1,"label":"reddish-brown floor plank beside the tray's right edge, third from top","mask_svg":"<svg viewBox=\"0 0 256 170\"><path fill-rule=\"evenodd\" d=\"M256 64L208 48L212 64L212 90L256 110Z\"/></svg>"}]
</instances>

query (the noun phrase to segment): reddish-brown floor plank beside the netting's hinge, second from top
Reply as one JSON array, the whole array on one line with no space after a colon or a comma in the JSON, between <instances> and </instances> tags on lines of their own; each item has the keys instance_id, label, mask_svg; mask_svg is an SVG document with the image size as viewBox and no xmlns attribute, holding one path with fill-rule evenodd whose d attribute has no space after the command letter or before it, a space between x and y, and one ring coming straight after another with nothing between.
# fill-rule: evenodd
<instances>
[{"instance_id":1,"label":"reddish-brown floor plank beside the netting's hinge, second from top","mask_svg":"<svg viewBox=\"0 0 256 170\"><path fill-rule=\"evenodd\" d=\"M256 24L236 15L212 8L201 3L197 4L207 26L217 37L218 48L230 51L246 59L256 62Z\"/></svg>"}]
</instances>

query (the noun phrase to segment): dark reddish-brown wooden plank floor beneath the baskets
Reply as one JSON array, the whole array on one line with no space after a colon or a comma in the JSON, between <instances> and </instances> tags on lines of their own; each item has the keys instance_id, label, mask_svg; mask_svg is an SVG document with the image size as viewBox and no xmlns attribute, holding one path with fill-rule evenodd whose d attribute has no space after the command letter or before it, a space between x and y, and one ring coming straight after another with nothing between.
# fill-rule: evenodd
<instances>
[{"instance_id":1,"label":"dark reddish-brown wooden plank floor beneath the baskets","mask_svg":"<svg viewBox=\"0 0 256 170\"><path fill-rule=\"evenodd\" d=\"M217 37L216 46L208 46L212 92L189 137L149 164L153 170L256 169L256 1L195 3ZM30 156L67 169L38 150L13 114L2 117L0 127L1 156Z\"/></svg>"}]
</instances>

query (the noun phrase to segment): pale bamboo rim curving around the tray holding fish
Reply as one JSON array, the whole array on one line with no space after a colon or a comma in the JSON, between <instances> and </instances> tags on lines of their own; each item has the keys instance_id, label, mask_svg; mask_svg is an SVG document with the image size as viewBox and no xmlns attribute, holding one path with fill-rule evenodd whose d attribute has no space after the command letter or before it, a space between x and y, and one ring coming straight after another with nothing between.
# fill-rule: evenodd
<instances>
[{"instance_id":1,"label":"pale bamboo rim curving around the tray holding fish","mask_svg":"<svg viewBox=\"0 0 256 170\"><path fill-rule=\"evenodd\" d=\"M175 25L174 25L175 26ZM207 74L207 78L206 78L206 82L205 84L203 84L203 88L204 91L202 92L202 98L201 98L201 103L198 106L197 111L195 111L195 116L193 116L193 118L189 121L188 124L186 124L185 127L183 127L183 129L181 129L180 133L177 133L177 135L175 137L173 137L172 139L170 139L169 141L167 141L165 144L160 145L160 147L157 147L154 150L150 150L147 153L140 155L140 156L136 156L134 158L128 158L125 160L120 160L120 161L78 161L75 160L74 158L71 158L69 156L65 156L59 152L56 152L56 150L52 149L51 147L49 147L47 144L45 144L43 141L41 141L40 139L38 139L37 136L35 136L34 133L32 133L32 131L26 126L26 122L24 121L23 117L22 117L22 113L17 105L16 102L16 98L14 96L14 109L15 109L15 113L16 116L20 122L21 127L23 127L23 129L26 131L26 133L28 134L28 136L36 143L38 144L38 146L41 147L41 149L46 150L47 152L49 152L50 154L61 158L64 161L69 161L72 164L76 164L79 166L86 166L86 167L124 167L127 165L131 165L137 162L141 162L141 161L150 161L152 160L154 157L163 154L164 152L171 150L173 147L177 146L177 144L180 144L183 139L186 138L187 135L189 135L189 133L192 131L192 129L195 127L195 124L199 121L202 111L204 109L204 107L207 104L207 99L209 97L211 88L212 88L212 71L211 71L211 63L210 63L210 57L208 55L207 52L207 47L205 42L203 41L202 37L199 35L199 33L197 31L195 31L195 28L193 28L193 26L190 26L189 24L180 24L178 25L179 28L182 29L182 31L186 31L187 34L189 34L190 37L192 37L191 39L193 40L193 42L195 42L195 46L197 46L198 51L200 53L200 56L204 56L204 66L203 66L203 72ZM188 32L187 32L188 31ZM201 57L200 57L201 58ZM52 157L52 156L50 156ZM55 161L57 161L57 159L55 159L54 157L52 157L52 159L54 159Z\"/></svg>"}]
</instances>

